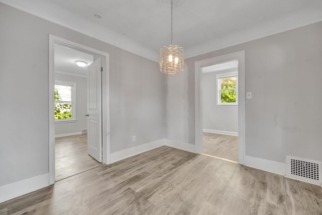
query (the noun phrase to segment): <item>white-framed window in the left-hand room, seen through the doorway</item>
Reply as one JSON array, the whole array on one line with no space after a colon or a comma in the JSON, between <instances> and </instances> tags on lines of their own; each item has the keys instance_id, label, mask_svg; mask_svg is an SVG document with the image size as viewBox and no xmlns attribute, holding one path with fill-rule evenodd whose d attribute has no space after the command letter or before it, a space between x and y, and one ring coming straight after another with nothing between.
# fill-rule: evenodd
<instances>
[{"instance_id":1,"label":"white-framed window in the left-hand room, seen through the doorway","mask_svg":"<svg viewBox=\"0 0 322 215\"><path fill-rule=\"evenodd\" d=\"M75 83L55 81L55 122L76 121Z\"/></svg>"}]
</instances>

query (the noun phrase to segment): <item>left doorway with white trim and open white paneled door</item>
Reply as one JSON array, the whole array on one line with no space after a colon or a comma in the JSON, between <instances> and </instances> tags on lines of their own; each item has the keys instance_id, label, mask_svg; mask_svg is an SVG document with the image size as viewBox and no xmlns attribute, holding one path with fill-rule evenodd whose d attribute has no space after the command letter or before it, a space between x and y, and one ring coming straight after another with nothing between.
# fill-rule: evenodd
<instances>
[{"instance_id":1,"label":"left doorway with white trim and open white paneled door","mask_svg":"<svg viewBox=\"0 0 322 215\"><path fill-rule=\"evenodd\" d=\"M49 184L108 163L108 104L109 55L49 35Z\"/></svg>"}]
</instances>

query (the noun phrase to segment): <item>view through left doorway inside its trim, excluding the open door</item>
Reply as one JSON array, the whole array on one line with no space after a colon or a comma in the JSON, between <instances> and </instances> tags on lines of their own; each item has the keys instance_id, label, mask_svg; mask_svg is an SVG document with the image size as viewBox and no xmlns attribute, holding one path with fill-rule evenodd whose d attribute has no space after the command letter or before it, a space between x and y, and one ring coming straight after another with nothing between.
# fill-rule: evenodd
<instances>
[{"instance_id":1,"label":"view through left doorway inside its trim, excluding the open door","mask_svg":"<svg viewBox=\"0 0 322 215\"><path fill-rule=\"evenodd\" d=\"M88 153L88 65L96 58L54 44L55 181L100 166ZM81 62L81 64L77 64Z\"/></svg>"}]
</instances>

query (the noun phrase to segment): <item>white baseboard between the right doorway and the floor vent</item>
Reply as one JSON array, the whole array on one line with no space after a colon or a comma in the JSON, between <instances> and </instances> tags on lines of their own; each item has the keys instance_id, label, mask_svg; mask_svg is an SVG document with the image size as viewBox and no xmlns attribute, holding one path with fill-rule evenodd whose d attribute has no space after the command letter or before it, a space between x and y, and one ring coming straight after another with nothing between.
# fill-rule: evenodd
<instances>
[{"instance_id":1,"label":"white baseboard between the right doorway and the floor vent","mask_svg":"<svg viewBox=\"0 0 322 215\"><path fill-rule=\"evenodd\" d=\"M285 176L285 163L245 156L245 166Z\"/></svg>"}]
</instances>

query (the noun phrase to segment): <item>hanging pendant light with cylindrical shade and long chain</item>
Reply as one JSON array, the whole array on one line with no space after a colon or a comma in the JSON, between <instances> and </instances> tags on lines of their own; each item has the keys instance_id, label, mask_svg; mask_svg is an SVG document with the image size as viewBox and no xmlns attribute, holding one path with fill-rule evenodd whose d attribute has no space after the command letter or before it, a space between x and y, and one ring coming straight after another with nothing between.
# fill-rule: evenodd
<instances>
[{"instance_id":1,"label":"hanging pendant light with cylindrical shade and long chain","mask_svg":"<svg viewBox=\"0 0 322 215\"><path fill-rule=\"evenodd\" d=\"M178 74L183 71L183 48L172 44L172 14L173 0L171 0L171 45L160 49L160 71L165 74Z\"/></svg>"}]
</instances>

